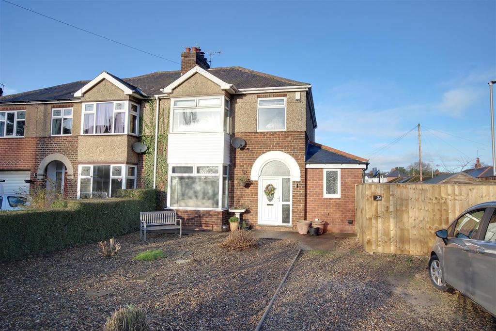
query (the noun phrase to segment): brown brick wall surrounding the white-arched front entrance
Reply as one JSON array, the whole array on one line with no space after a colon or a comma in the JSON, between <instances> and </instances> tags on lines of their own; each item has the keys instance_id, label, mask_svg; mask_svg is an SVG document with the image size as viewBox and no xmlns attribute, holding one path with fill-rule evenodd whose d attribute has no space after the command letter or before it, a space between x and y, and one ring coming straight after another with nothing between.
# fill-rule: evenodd
<instances>
[{"instance_id":1,"label":"brown brick wall surrounding the white-arched front entrance","mask_svg":"<svg viewBox=\"0 0 496 331\"><path fill-rule=\"evenodd\" d=\"M242 217L251 225L257 224L258 217L258 181L248 186L238 184L239 177L250 176L251 166L262 154L270 151L282 151L291 155L300 166L301 181L293 182L292 224L305 216L305 149L306 133L303 132L237 132L238 136L246 140L242 149L231 147L231 167L229 171L229 206L244 204L249 206L248 212ZM298 188L295 184L298 183ZM288 228L280 228L288 229ZM292 228L289 228L292 229Z\"/></svg>"}]
</instances>

